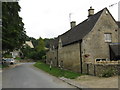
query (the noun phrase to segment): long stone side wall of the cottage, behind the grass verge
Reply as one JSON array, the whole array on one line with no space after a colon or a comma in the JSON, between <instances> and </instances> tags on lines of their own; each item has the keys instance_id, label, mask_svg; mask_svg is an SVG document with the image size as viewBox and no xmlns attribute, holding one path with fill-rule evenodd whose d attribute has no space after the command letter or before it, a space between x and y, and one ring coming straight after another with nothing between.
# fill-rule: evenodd
<instances>
[{"instance_id":1,"label":"long stone side wall of the cottage, behind the grass verge","mask_svg":"<svg viewBox=\"0 0 120 90\"><path fill-rule=\"evenodd\" d=\"M81 72L79 43L71 44L58 49L58 61L59 64L61 61L63 62L65 69Z\"/></svg>"}]
</instances>

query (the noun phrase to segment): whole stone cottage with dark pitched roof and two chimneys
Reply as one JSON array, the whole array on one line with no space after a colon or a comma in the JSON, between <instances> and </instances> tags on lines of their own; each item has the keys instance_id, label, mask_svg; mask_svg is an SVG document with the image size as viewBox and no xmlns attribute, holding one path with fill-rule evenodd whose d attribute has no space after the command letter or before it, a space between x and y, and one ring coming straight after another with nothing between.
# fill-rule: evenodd
<instances>
[{"instance_id":1,"label":"whole stone cottage with dark pitched roof and two chimneys","mask_svg":"<svg viewBox=\"0 0 120 90\"><path fill-rule=\"evenodd\" d=\"M94 14L88 10L88 18L55 38L47 52L47 63L75 72L89 72L87 63L120 59L118 51L118 23L107 8Z\"/></svg>"}]
</instances>

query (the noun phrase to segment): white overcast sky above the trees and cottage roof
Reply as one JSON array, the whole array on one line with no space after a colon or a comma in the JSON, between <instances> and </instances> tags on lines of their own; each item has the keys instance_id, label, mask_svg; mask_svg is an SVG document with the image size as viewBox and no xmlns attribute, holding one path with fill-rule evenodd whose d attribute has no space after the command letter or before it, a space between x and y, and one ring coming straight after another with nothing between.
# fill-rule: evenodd
<instances>
[{"instance_id":1,"label":"white overcast sky above the trees and cottage roof","mask_svg":"<svg viewBox=\"0 0 120 90\"><path fill-rule=\"evenodd\" d=\"M107 7L118 21L120 0L20 0L20 16L27 35L34 38L54 38L70 29L71 21L77 24L87 19L92 6L95 13ZM113 5L109 7L109 5Z\"/></svg>"}]
</instances>

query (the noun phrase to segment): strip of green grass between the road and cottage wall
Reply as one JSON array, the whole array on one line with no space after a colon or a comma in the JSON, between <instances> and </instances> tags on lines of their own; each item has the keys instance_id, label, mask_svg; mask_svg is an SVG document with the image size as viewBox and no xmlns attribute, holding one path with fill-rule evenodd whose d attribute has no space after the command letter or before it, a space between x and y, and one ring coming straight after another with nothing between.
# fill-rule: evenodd
<instances>
[{"instance_id":1,"label":"strip of green grass between the road and cottage wall","mask_svg":"<svg viewBox=\"0 0 120 90\"><path fill-rule=\"evenodd\" d=\"M34 66L56 77L65 77L65 78L75 79L81 75L80 73L63 70L57 67L52 67L52 69L50 70L49 65L40 61L36 62Z\"/></svg>"}]
</instances>

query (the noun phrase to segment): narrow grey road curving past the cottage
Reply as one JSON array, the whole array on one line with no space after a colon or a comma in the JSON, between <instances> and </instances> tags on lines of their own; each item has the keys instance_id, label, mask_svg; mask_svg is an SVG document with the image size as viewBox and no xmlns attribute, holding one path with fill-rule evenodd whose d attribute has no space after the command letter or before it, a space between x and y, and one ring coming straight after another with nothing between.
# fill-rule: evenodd
<instances>
[{"instance_id":1,"label":"narrow grey road curving past the cottage","mask_svg":"<svg viewBox=\"0 0 120 90\"><path fill-rule=\"evenodd\" d=\"M32 63L23 63L2 73L3 88L75 88L48 73L39 70Z\"/></svg>"}]
</instances>

